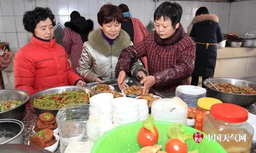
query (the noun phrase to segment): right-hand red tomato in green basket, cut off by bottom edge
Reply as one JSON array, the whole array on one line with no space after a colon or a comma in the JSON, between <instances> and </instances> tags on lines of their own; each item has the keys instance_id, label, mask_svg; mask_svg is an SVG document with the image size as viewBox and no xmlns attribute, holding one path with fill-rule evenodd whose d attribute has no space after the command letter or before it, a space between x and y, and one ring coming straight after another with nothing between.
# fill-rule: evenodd
<instances>
[{"instance_id":1,"label":"right-hand red tomato in green basket, cut off by bottom edge","mask_svg":"<svg viewBox=\"0 0 256 153\"><path fill-rule=\"evenodd\" d=\"M166 142L166 151L168 153L187 153L188 146L183 143L180 139L169 139Z\"/></svg>"}]
</instances>

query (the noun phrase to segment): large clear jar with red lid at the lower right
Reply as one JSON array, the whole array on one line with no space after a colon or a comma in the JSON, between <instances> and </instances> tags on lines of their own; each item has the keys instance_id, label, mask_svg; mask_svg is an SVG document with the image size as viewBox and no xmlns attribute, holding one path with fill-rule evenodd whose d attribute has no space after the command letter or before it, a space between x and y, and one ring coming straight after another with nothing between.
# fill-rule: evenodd
<instances>
[{"instance_id":1,"label":"large clear jar with red lid at the lower right","mask_svg":"<svg viewBox=\"0 0 256 153\"><path fill-rule=\"evenodd\" d=\"M228 153L250 153L253 128L248 121L248 111L241 106L228 103L213 105L204 117L202 131Z\"/></svg>"}]
</instances>

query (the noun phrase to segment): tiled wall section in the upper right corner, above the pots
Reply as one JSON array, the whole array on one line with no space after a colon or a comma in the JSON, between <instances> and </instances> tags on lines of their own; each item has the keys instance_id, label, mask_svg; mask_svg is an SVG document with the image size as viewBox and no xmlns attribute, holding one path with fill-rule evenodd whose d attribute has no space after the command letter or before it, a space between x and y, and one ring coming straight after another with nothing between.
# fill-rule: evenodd
<instances>
[{"instance_id":1,"label":"tiled wall section in the upper right corner, above the pots","mask_svg":"<svg viewBox=\"0 0 256 153\"><path fill-rule=\"evenodd\" d=\"M244 35L246 32L256 34L256 0L232 2L228 32Z\"/></svg>"}]
</instances>

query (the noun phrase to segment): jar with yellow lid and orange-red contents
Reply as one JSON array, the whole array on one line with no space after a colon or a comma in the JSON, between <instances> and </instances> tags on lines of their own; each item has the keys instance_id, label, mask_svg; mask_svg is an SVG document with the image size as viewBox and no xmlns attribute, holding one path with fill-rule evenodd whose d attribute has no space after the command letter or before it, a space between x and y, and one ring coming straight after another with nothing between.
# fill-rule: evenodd
<instances>
[{"instance_id":1,"label":"jar with yellow lid and orange-red contents","mask_svg":"<svg viewBox=\"0 0 256 153\"><path fill-rule=\"evenodd\" d=\"M198 106L196 108L196 118L195 118L195 126L194 126L195 129L202 131L204 115L210 112L212 105L219 104L219 103L222 103L222 102L215 98L204 97L204 98L198 99L198 102L197 102Z\"/></svg>"}]
</instances>

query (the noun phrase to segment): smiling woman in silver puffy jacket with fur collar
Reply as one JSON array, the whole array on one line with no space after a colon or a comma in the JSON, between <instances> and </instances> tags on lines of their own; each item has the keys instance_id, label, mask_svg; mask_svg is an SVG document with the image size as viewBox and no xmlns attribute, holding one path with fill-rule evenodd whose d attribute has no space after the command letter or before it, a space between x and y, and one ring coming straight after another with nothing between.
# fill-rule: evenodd
<instances>
[{"instance_id":1,"label":"smiling woman in silver puffy jacket with fur collar","mask_svg":"<svg viewBox=\"0 0 256 153\"><path fill-rule=\"evenodd\" d=\"M83 45L77 73L88 83L114 79L115 67L121 51L132 45L128 33L121 29L122 10L105 4L97 14L100 28L92 31ZM134 78L142 79L148 71L138 60L132 65Z\"/></svg>"}]
</instances>

